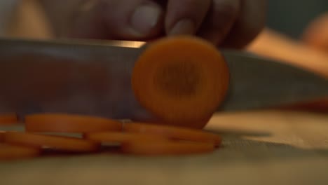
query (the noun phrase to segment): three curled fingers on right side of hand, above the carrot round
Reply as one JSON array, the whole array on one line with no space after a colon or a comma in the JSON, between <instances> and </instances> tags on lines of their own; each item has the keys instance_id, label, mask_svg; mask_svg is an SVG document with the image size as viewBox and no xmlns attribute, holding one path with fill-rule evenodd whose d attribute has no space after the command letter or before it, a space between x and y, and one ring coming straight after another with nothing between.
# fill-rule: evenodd
<instances>
[{"instance_id":1,"label":"three curled fingers on right side of hand, above the carrot round","mask_svg":"<svg viewBox=\"0 0 328 185\"><path fill-rule=\"evenodd\" d=\"M217 46L242 48L265 25L266 0L169 0L167 34L197 34Z\"/></svg>"}]
</instances>

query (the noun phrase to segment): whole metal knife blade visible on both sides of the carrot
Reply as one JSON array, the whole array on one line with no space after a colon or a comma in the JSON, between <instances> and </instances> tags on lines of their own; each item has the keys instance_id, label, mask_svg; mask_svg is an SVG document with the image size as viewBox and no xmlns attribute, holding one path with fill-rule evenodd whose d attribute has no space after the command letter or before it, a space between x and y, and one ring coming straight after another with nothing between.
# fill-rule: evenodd
<instances>
[{"instance_id":1,"label":"whole metal knife blade visible on both sides of the carrot","mask_svg":"<svg viewBox=\"0 0 328 185\"><path fill-rule=\"evenodd\" d=\"M144 44L0 39L0 112L150 118L130 87ZM328 81L322 76L245 51L220 52L231 76L217 111L268 109L328 97Z\"/></svg>"}]
</instances>

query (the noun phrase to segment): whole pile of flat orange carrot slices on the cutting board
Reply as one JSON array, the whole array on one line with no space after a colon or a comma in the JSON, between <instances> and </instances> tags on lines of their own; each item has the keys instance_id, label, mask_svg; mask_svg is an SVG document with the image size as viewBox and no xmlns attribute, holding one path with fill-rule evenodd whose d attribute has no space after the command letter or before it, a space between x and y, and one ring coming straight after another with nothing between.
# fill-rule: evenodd
<instances>
[{"instance_id":1,"label":"whole pile of flat orange carrot slices on the cutting board","mask_svg":"<svg viewBox=\"0 0 328 185\"><path fill-rule=\"evenodd\" d=\"M34 157L44 149L80 153L102 151L100 146L107 144L118 144L125 154L145 156L210 153L221 144L221 137L210 132L155 123L123 124L69 114L34 114L26 116L25 121L28 132L0 132L0 142L4 143L0 160L11 158L8 153L15 153L12 156L15 159ZM42 132L79 132L83 139Z\"/></svg>"}]
</instances>

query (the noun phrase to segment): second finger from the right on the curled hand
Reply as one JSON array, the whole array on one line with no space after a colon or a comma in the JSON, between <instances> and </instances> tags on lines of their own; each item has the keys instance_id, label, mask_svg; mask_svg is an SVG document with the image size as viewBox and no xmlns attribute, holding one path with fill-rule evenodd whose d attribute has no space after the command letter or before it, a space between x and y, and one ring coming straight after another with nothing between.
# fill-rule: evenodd
<instances>
[{"instance_id":1,"label":"second finger from the right on the curled hand","mask_svg":"<svg viewBox=\"0 0 328 185\"><path fill-rule=\"evenodd\" d=\"M221 44L240 13L240 0L212 0L212 6L198 33L215 45Z\"/></svg>"}]
</instances>

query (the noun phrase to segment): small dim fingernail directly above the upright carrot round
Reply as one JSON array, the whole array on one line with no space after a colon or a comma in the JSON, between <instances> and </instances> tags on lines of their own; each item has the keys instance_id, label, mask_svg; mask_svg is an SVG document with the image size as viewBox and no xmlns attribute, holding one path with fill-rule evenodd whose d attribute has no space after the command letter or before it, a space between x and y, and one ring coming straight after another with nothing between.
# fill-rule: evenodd
<instances>
[{"instance_id":1,"label":"small dim fingernail directly above the upright carrot round","mask_svg":"<svg viewBox=\"0 0 328 185\"><path fill-rule=\"evenodd\" d=\"M179 35L179 34L195 34L196 26L192 20L184 19L177 22L168 34Z\"/></svg>"}]
</instances>

